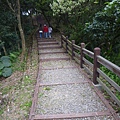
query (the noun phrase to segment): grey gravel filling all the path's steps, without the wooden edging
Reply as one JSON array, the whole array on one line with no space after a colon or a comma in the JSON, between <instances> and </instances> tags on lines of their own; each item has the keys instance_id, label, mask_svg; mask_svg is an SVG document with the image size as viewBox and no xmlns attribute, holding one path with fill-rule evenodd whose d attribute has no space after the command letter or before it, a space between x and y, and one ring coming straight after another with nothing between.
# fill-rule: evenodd
<instances>
[{"instance_id":1,"label":"grey gravel filling all the path's steps, without the wooden edging","mask_svg":"<svg viewBox=\"0 0 120 120\"><path fill-rule=\"evenodd\" d=\"M48 45L39 45L39 48L48 46L56 47L56 45L49 45L48 43ZM64 49L40 49L39 53L60 51L64 51ZM71 57L66 53L56 53L40 54L39 58L41 60L45 60L51 58ZM94 91L93 86L90 85L84 75L82 75L79 69L79 65L75 61L41 61L40 69L40 84L45 85L39 87L35 114L77 114L104 112L108 110L108 108L104 105L104 103ZM84 81L86 82L83 83ZM49 86L47 86L48 84ZM114 118L112 116L95 116L60 120L114 120Z\"/></svg>"}]
</instances>

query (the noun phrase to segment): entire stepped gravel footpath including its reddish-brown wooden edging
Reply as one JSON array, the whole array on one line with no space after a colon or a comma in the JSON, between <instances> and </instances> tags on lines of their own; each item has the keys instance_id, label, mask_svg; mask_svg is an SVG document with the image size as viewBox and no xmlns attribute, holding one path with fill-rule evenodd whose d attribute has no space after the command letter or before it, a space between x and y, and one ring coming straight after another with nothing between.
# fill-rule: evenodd
<instances>
[{"instance_id":1,"label":"entire stepped gravel footpath including its reddish-brown wooden edging","mask_svg":"<svg viewBox=\"0 0 120 120\"><path fill-rule=\"evenodd\" d=\"M39 70L29 120L119 120L55 39L38 38Z\"/></svg>"}]
</instances>

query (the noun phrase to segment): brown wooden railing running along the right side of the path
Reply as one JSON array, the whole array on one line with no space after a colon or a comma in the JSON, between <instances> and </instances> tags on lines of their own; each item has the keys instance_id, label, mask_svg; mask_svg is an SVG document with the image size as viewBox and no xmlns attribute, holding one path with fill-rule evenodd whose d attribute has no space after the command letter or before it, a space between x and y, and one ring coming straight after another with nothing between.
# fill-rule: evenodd
<instances>
[{"instance_id":1,"label":"brown wooden railing running along the right side of the path","mask_svg":"<svg viewBox=\"0 0 120 120\"><path fill-rule=\"evenodd\" d=\"M115 73L120 78L120 67L108 61L107 59L100 56L100 48L95 48L94 52L85 49L85 44L81 43L80 46L75 44L75 40L68 40L68 37L61 35L61 47L65 48L72 59L80 64L81 68L84 68L88 74L92 76L93 84L100 84L104 90L115 100L115 102L120 106L120 100L111 91L109 87L102 81L106 80L114 89L120 92L120 86L115 83L110 77L108 77L102 70L100 70L100 65L103 65L108 70ZM90 62L87 58L93 60ZM102 78L102 79L101 79ZM120 80L120 79L119 79Z\"/></svg>"}]
</instances>

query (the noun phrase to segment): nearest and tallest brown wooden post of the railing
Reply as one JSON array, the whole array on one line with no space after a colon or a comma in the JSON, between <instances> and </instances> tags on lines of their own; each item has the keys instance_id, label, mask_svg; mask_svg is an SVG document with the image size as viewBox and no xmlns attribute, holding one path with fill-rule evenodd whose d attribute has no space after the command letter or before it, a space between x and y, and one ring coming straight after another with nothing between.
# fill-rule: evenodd
<instances>
[{"instance_id":1,"label":"nearest and tallest brown wooden post of the railing","mask_svg":"<svg viewBox=\"0 0 120 120\"><path fill-rule=\"evenodd\" d=\"M99 77L99 73L97 72L97 68L100 67L100 64L97 61L97 56L100 55L100 48L94 48L94 66L93 66L93 83L98 84L97 77Z\"/></svg>"}]
</instances>

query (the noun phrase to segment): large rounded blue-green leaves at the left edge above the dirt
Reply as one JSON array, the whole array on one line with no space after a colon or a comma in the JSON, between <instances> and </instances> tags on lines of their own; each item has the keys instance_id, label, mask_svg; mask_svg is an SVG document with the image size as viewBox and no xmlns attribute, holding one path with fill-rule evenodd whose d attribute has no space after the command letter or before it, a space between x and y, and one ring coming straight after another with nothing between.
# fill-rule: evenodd
<instances>
[{"instance_id":1,"label":"large rounded blue-green leaves at the left edge above the dirt","mask_svg":"<svg viewBox=\"0 0 120 120\"><path fill-rule=\"evenodd\" d=\"M0 75L9 77L12 74L11 61L8 56L2 56L0 58Z\"/></svg>"}]
</instances>

